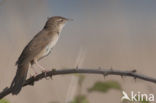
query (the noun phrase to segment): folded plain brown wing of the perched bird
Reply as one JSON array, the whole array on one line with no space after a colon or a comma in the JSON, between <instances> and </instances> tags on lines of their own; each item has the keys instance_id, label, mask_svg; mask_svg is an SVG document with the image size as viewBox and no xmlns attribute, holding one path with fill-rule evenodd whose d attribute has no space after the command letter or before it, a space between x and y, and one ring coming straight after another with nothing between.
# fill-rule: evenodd
<instances>
[{"instance_id":1,"label":"folded plain brown wing of the perched bird","mask_svg":"<svg viewBox=\"0 0 156 103\"><path fill-rule=\"evenodd\" d=\"M50 42L48 34L49 32L45 30L39 32L24 48L16 64L21 64L23 61L31 62Z\"/></svg>"}]
</instances>

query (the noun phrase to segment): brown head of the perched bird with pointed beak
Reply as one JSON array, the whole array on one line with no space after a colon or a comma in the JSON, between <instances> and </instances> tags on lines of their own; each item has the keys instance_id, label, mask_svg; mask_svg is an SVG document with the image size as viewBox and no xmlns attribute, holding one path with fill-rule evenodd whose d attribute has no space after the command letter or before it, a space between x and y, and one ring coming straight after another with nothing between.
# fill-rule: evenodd
<instances>
[{"instance_id":1,"label":"brown head of the perched bird with pointed beak","mask_svg":"<svg viewBox=\"0 0 156 103\"><path fill-rule=\"evenodd\" d=\"M61 16L53 16L48 18L45 27L49 29L58 29L61 31L67 21L72 21L72 19Z\"/></svg>"}]
</instances>

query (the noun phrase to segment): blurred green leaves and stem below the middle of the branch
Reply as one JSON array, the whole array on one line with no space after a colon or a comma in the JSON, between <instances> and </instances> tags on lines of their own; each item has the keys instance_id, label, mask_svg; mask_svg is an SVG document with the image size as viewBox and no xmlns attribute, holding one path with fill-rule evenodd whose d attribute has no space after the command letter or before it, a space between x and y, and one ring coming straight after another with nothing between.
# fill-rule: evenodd
<instances>
[{"instance_id":1,"label":"blurred green leaves and stem below the middle of the branch","mask_svg":"<svg viewBox=\"0 0 156 103\"><path fill-rule=\"evenodd\" d=\"M88 94L84 95L81 93L82 85L85 80L84 75L78 75L79 77L79 88L78 88L78 94L75 96L74 100L70 103L89 103L89 100L87 99L87 96L92 92L101 92L106 93L111 89L121 90L121 86L117 81L97 81L88 89Z\"/></svg>"}]
</instances>

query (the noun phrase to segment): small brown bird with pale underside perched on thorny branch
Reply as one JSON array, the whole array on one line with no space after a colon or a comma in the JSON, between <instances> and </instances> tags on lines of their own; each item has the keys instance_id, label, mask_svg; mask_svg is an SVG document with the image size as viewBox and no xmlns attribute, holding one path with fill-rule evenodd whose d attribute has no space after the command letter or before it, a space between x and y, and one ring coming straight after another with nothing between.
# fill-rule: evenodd
<instances>
[{"instance_id":1,"label":"small brown bird with pale underside perched on thorny branch","mask_svg":"<svg viewBox=\"0 0 156 103\"><path fill-rule=\"evenodd\" d=\"M72 19L62 16L48 18L43 29L25 46L16 62L17 71L10 86L13 95L17 95L21 91L27 77L28 69L33 64L36 64L36 66L45 71L45 68L38 61L51 53L51 50L60 37L63 27L70 20L72 21Z\"/></svg>"}]
</instances>

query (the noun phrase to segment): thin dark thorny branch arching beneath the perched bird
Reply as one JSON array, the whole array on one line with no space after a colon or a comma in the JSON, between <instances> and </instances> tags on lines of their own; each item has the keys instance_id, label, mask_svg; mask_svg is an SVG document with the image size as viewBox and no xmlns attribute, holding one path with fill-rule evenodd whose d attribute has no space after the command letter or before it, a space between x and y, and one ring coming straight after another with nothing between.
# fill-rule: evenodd
<instances>
[{"instance_id":1,"label":"thin dark thorny branch arching beneath the perched bird","mask_svg":"<svg viewBox=\"0 0 156 103\"><path fill-rule=\"evenodd\" d=\"M152 78L152 77L148 77L142 74L138 74L136 73L136 70L132 70L132 71L120 71L120 70L113 70L113 69L86 69L86 68L72 68L72 69L62 69L62 70L55 70L52 69L51 71L46 72L45 73L40 73L35 77L30 77L29 79L27 79L23 85L27 86L27 85L34 85L34 82L37 82L43 78L47 78L50 77L52 78L52 76L55 75L65 75L65 74L73 74L73 73L85 73L85 74L100 74L105 76L108 75L118 75L118 76L129 76L129 77L133 77L134 79L138 78L138 79L142 79L144 81L148 81L148 82L152 82L152 83L156 83L156 78ZM0 92L0 99L2 99L3 97L9 95L11 93L11 88L6 87L5 89L3 89L2 92Z\"/></svg>"}]
</instances>

